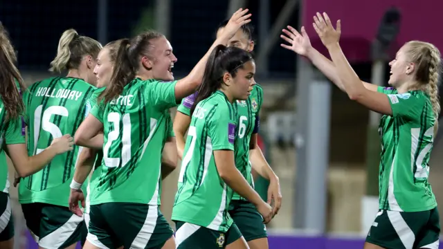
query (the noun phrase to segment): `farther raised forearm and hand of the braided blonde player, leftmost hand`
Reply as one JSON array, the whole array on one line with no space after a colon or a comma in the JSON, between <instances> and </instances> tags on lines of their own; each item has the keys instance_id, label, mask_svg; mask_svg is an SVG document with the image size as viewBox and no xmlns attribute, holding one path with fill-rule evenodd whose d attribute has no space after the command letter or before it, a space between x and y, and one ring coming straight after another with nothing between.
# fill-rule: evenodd
<instances>
[{"instance_id":1,"label":"farther raised forearm and hand of the braided blonde player, leftmost hand","mask_svg":"<svg viewBox=\"0 0 443 249\"><path fill-rule=\"evenodd\" d=\"M330 59L327 59L324 55L322 55L318 50L311 46L311 41L305 31L305 27L301 28L301 34L298 31L291 27L287 26L288 29L284 29L283 33L286 35L281 35L282 39L286 42L289 42L289 45L282 44L283 48L287 48L288 50L292 50L298 55L302 55L307 57L316 68L320 72L322 72L329 80L331 80L336 86L338 86L341 91L345 91L343 83L338 77L338 73L336 71L336 66L334 62ZM370 91L377 91L377 85L370 84L368 82L363 82L363 86Z\"/></svg>"}]
</instances>

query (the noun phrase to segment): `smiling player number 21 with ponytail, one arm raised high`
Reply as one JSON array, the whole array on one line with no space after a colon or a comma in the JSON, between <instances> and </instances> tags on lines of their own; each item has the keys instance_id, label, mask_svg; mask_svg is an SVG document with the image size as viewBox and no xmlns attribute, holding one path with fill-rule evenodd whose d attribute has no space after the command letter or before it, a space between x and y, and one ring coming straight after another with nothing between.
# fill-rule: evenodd
<instances>
[{"instance_id":1,"label":"smiling player number 21 with ponytail, one arm raised high","mask_svg":"<svg viewBox=\"0 0 443 249\"><path fill-rule=\"evenodd\" d=\"M250 21L247 11L233 15L226 33L179 81L171 73L177 58L163 35L151 31L120 44L111 82L75 133L76 144L103 148L85 248L175 248L159 212L164 111L195 91L210 51Z\"/></svg>"}]
</instances>

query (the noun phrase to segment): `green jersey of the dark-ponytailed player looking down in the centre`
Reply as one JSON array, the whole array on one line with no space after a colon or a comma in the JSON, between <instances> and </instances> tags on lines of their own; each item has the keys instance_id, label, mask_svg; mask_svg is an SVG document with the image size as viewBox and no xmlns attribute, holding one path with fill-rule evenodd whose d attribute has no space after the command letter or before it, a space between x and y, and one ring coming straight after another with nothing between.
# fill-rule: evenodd
<instances>
[{"instance_id":1,"label":"green jersey of the dark-ponytailed player looking down in the centre","mask_svg":"<svg viewBox=\"0 0 443 249\"><path fill-rule=\"evenodd\" d=\"M192 114L179 174L172 220L226 232L232 190L219 176L213 151L234 150L235 107L217 91L201 100Z\"/></svg>"}]
</instances>

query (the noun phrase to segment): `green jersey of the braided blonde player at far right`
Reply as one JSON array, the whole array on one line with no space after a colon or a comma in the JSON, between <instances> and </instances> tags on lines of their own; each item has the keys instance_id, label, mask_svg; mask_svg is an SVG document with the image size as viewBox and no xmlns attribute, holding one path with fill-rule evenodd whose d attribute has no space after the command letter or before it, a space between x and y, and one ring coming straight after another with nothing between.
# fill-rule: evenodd
<instances>
[{"instance_id":1,"label":"green jersey of the braided blonde player at far right","mask_svg":"<svg viewBox=\"0 0 443 249\"><path fill-rule=\"evenodd\" d=\"M429 176L435 115L429 96L423 91L399 94L379 86L386 93L392 116L380 121L381 161L379 208L419 212L437 206Z\"/></svg>"}]
</instances>

